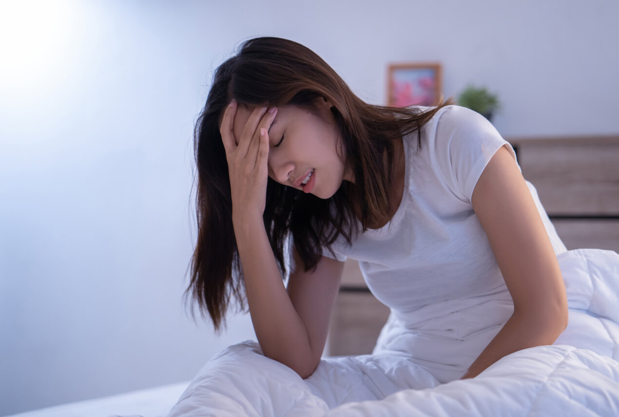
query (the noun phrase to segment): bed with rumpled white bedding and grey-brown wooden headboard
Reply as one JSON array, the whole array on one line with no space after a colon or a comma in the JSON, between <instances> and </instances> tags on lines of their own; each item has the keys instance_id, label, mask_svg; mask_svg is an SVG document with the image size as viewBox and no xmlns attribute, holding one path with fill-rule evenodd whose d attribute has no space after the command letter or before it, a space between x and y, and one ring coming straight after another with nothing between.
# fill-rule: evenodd
<instances>
[{"instance_id":1,"label":"bed with rumpled white bedding and grey-brown wooden headboard","mask_svg":"<svg viewBox=\"0 0 619 417\"><path fill-rule=\"evenodd\" d=\"M569 325L553 345L440 384L405 356L371 355L389 310L347 263L328 355L308 379L248 340L191 381L11 417L619 415L619 137L510 142L569 249L558 256Z\"/></svg>"}]
</instances>

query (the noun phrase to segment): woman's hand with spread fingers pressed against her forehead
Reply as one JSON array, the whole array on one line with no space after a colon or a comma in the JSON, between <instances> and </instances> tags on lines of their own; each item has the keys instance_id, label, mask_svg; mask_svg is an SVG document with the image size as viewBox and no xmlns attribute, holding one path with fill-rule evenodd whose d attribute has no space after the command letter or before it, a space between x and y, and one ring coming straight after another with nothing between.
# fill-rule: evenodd
<instances>
[{"instance_id":1,"label":"woman's hand with spread fingers pressed against her forehead","mask_svg":"<svg viewBox=\"0 0 619 417\"><path fill-rule=\"evenodd\" d=\"M277 108L269 113L266 107L256 106L237 139L232 129L236 106L234 100L227 106L219 128L230 174L232 218L233 222L239 218L262 221L269 178L269 127Z\"/></svg>"}]
</instances>

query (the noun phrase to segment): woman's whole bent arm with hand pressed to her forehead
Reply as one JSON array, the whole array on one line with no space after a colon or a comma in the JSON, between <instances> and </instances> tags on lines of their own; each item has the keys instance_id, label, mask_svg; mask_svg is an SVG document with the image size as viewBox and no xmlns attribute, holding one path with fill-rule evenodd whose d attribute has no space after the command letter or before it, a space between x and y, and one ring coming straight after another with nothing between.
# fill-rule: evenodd
<instances>
[{"instance_id":1,"label":"woman's whole bent arm with hand pressed to her forehead","mask_svg":"<svg viewBox=\"0 0 619 417\"><path fill-rule=\"evenodd\" d=\"M306 378L316 369L324 348L343 263L323 257L314 273L292 271L290 296L282 282L262 221L268 128L277 113L272 110L255 108L237 140L232 103L223 113L220 132L230 173L232 224L258 343L265 356Z\"/></svg>"}]
</instances>

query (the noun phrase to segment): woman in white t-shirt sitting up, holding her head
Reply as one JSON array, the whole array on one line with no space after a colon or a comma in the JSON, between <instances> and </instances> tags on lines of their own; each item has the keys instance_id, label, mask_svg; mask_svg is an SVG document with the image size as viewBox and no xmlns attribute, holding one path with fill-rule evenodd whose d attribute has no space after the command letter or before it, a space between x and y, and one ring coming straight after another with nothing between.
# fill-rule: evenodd
<instances>
[{"instance_id":1,"label":"woman in white t-shirt sitting up, holding her head","mask_svg":"<svg viewBox=\"0 0 619 417\"><path fill-rule=\"evenodd\" d=\"M565 246L508 142L451 99L368 105L305 46L254 38L215 72L195 152L187 292L215 329L246 296L264 355L303 378L346 257L402 329L375 353L412 355L440 382L566 328Z\"/></svg>"}]
</instances>

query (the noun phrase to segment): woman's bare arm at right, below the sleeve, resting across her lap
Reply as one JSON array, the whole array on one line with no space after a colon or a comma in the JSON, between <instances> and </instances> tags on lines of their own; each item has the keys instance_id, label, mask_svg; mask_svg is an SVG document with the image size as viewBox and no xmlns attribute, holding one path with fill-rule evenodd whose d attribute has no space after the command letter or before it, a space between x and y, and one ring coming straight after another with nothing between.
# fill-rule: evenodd
<instances>
[{"instance_id":1,"label":"woman's bare arm at right, below the sleeve, resting across her lap","mask_svg":"<svg viewBox=\"0 0 619 417\"><path fill-rule=\"evenodd\" d=\"M555 251L516 161L502 146L471 197L514 301L514 313L460 379L515 351L552 345L568 325L568 300Z\"/></svg>"}]
</instances>

